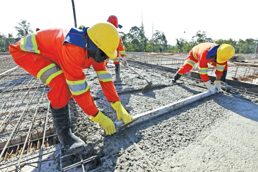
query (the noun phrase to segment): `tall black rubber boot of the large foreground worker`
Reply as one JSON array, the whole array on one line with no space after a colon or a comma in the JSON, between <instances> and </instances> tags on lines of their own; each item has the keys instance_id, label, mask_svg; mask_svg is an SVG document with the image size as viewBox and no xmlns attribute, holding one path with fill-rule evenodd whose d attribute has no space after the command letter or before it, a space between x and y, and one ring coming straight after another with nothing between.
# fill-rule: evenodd
<instances>
[{"instance_id":1,"label":"tall black rubber boot of the large foreground worker","mask_svg":"<svg viewBox=\"0 0 258 172\"><path fill-rule=\"evenodd\" d=\"M53 122L57 131L58 139L67 152L81 152L86 145L79 137L75 136L70 129L71 118L69 103L60 108L52 109L50 106Z\"/></svg>"}]
</instances>

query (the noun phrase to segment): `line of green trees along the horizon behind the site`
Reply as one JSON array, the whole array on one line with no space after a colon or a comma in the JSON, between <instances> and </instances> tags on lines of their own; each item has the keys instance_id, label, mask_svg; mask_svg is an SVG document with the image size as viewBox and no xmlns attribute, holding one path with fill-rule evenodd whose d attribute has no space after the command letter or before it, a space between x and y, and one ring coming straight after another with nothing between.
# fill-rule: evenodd
<instances>
[{"instance_id":1,"label":"line of green trees along the horizon behind the site","mask_svg":"<svg viewBox=\"0 0 258 172\"><path fill-rule=\"evenodd\" d=\"M21 20L15 26L18 32L16 38L12 34L4 35L0 33L0 52L8 52L9 44L15 44L21 38L32 34L30 22ZM187 39L176 38L176 45L169 45L164 32L156 30L151 39L145 35L144 26L133 26L129 33L119 32L126 52L189 52L192 47L203 42L214 42L215 44L227 43L235 48L235 53L254 53L257 47L257 39L218 39L207 38L205 31L198 31L190 42Z\"/></svg>"}]
</instances>

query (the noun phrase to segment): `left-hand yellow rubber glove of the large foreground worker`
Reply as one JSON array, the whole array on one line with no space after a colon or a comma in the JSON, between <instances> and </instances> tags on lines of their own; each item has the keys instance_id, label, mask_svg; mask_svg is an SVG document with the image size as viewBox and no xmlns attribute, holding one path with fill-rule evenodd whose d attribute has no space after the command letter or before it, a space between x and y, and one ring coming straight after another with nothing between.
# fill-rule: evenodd
<instances>
[{"instance_id":1,"label":"left-hand yellow rubber glove of the large foreground worker","mask_svg":"<svg viewBox=\"0 0 258 172\"><path fill-rule=\"evenodd\" d=\"M95 117L90 116L90 120L99 123L99 125L104 128L107 135L111 135L116 132L116 128L113 121L110 120L109 117L107 117L100 111Z\"/></svg>"}]
</instances>

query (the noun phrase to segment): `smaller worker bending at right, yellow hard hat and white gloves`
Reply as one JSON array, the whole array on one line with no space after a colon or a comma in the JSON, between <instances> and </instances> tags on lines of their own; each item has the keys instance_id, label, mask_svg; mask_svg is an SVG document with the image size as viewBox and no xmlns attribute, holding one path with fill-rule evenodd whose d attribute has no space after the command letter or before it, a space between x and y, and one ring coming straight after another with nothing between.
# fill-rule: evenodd
<instances>
[{"instance_id":1,"label":"smaller worker bending at right, yellow hard hat and white gloves","mask_svg":"<svg viewBox=\"0 0 258 172\"><path fill-rule=\"evenodd\" d=\"M176 80L186 72L189 72L194 67L195 63L199 62L200 76L212 94L215 93L214 88L217 88L217 93L219 93L221 86L230 90L232 87L226 83L227 60L232 58L234 53L234 47L229 44L217 45L211 42L198 44L189 52L189 56L186 58L184 65L174 75L172 83L176 83ZM216 81L214 81L214 87L211 85L211 81L208 77L207 63L216 67Z\"/></svg>"}]
</instances>

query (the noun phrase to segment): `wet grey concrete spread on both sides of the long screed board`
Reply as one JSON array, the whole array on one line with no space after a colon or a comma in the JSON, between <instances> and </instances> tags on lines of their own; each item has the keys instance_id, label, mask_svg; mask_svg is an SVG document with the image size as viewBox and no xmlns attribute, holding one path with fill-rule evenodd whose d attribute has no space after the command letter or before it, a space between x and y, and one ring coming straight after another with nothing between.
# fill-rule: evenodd
<instances>
[{"instance_id":1,"label":"wet grey concrete spread on both sides of the long screed board","mask_svg":"<svg viewBox=\"0 0 258 172\"><path fill-rule=\"evenodd\" d=\"M144 79L121 66L121 80L115 81L114 65L108 66L121 103L132 116L207 90L202 82L185 77L171 84L173 74L139 66L134 69L153 82L149 90L141 92L147 84ZM95 71L86 69L85 74L97 107L118 121ZM72 131L86 143L82 158L96 156L85 164L85 171L257 171L257 103L257 96L222 90L112 136L105 136L103 128L91 121L73 99L70 112ZM45 158L58 156L54 153ZM62 167L79 161L79 154L68 156L62 159ZM59 171L60 161L46 162L43 167ZM22 169L37 171L31 166ZM82 171L82 167L68 171L75 170Z\"/></svg>"}]
</instances>

